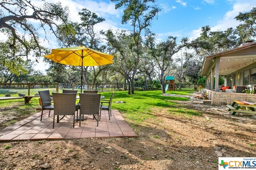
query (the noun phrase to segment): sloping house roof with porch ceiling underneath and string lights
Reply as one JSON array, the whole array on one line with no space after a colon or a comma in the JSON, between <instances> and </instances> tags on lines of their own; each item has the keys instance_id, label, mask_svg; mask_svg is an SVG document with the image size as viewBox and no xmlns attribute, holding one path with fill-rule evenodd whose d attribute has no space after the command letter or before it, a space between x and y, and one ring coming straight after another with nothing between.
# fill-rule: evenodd
<instances>
[{"instance_id":1,"label":"sloping house roof with porch ceiling underneath and string lights","mask_svg":"<svg viewBox=\"0 0 256 170\"><path fill-rule=\"evenodd\" d=\"M220 61L219 75L225 76L256 62L256 43L243 45L235 49L223 51L204 57L202 76L206 76L212 68L215 72L215 62Z\"/></svg>"}]
</instances>

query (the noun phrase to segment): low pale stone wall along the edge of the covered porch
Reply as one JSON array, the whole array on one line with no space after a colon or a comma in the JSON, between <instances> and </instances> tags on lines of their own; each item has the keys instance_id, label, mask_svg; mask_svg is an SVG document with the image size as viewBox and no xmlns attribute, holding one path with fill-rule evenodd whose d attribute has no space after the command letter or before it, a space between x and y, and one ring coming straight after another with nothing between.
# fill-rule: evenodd
<instances>
[{"instance_id":1,"label":"low pale stone wall along the edge of the covered porch","mask_svg":"<svg viewBox=\"0 0 256 170\"><path fill-rule=\"evenodd\" d=\"M256 103L256 94L212 92L212 106L232 104L233 100Z\"/></svg>"}]
</instances>

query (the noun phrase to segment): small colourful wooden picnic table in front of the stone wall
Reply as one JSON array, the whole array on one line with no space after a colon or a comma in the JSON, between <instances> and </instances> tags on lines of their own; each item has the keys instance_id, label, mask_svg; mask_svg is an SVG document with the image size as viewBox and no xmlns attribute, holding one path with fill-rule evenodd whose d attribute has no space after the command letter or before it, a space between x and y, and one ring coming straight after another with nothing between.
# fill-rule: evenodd
<instances>
[{"instance_id":1,"label":"small colourful wooden picnic table in front of the stone wall","mask_svg":"<svg viewBox=\"0 0 256 170\"><path fill-rule=\"evenodd\" d=\"M232 105L227 105L228 111L233 111L232 115L238 113L256 114L256 103L246 102L241 100L234 100Z\"/></svg>"}]
</instances>

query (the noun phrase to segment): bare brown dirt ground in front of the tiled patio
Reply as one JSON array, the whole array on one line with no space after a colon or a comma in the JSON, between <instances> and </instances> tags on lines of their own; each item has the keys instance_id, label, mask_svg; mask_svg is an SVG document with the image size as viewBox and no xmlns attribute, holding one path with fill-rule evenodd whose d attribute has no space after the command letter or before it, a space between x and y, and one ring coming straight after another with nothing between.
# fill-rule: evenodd
<instances>
[{"instance_id":1,"label":"bare brown dirt ground in front of the tiled patio","mask_svg":"<svg viewBox=\"0 0 256 170\"><path fill-rule=\"evenodd\" d=\"M256 119L232 117L225 106L179 104L202 115L156 108L155 118L130 124L138 138L2 142L0 169L216 170L220 156L256 157Z\"/></svg>"}]
</instances>

